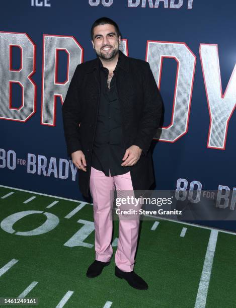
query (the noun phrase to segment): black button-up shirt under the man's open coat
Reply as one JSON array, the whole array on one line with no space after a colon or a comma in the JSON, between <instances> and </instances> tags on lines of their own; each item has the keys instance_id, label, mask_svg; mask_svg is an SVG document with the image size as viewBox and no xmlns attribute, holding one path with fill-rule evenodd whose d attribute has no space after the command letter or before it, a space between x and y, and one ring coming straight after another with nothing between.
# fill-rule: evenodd
<instances>
[{"instance_id":1,"label":"black button-up shirt under the man's open coat","mask_svg":"<svg viewBox=\"0 0 236 308\"><path fill-rule=\"evenodd\" d=\"M119 59L118 59L119 61ZM116 89L115 75L119 73L119 67L113 72L110 90L107 85L109 70L103 66L99 59L100 70L100 104L91 166L103 171L109 177L121 175L130 170L130 166L122 167L122 158L125 154L125 145L121 126L121 110Z\"/></svg>"}]
</instances>

